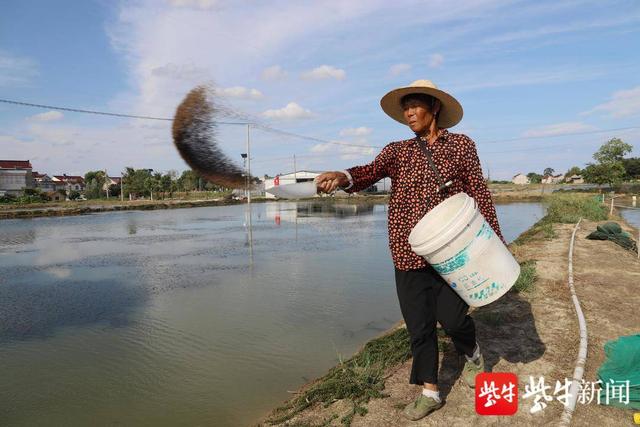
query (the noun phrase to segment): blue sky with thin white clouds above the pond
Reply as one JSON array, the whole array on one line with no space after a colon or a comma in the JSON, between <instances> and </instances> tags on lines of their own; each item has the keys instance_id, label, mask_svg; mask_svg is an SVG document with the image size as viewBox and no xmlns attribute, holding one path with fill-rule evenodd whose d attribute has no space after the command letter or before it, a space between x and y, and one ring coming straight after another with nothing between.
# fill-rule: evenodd
<instances>
[{"instance_id":1,"label":"blue sky with thin white clouds above the pond","mask_svg":"<svg viewBox=\"0 0 640 427\"><path fill-rule=\"evenodd\" d=\"M379 100L426 78L462 103L451 131L476 141L485 174L510 179L584 166L612 137L639 156L638 52L635 0L9 0L0 98L172 117L211 84L242 116L327 141L254 130L253 173L274 175L294 154L298 169L342 169L411 137ZM240 162L245 130L218 139ZM50 174L186 168L169 122L2 103L0 158Z\"/></svg>"}]
</instances>

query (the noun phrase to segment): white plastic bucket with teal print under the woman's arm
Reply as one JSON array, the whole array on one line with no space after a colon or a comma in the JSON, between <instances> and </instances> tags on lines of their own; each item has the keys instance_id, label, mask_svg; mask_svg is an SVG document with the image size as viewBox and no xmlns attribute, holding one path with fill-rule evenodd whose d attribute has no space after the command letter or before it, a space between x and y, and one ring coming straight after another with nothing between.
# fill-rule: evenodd
<instances>
[{"instance_id":1,"label":"white plastic bucket with teal print under the woman's arm","mask_svg":"<svg viewBox=\"0 0 640 427\"><path fill-rule=\"evenodd\" d=\"M472 307L514 285L520 265L466 193L449 197L411 230L409 244Z\"/></svg>"}]
</instances>

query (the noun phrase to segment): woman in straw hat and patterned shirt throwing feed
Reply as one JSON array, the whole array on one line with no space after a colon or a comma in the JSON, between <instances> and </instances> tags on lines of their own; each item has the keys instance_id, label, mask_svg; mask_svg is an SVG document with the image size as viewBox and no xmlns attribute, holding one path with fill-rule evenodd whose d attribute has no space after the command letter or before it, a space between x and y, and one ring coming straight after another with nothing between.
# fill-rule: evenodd
<instances>
[{"instance_id":1,"label":"woman in straw hat and patterned shirt throwing feed","mask_svg":"<svg viewBox=\"0 0 640 427\"><path fill-rule=\"evenodd\" d=\"M436 321L452 338L466 363L462 379L475 386L484 360L476 342L468 305L424 258L409 245L409 233L417 222L446 198L465 192L473 197L496 234L506 244L496 217L474 142L446 128L462 119L462 106L428 80L387 93L380 105L394 120L409 126L415 137L392 142L373 163L343 172L326 172L317 178L318 189L331 193L363 190L391 178L389 199L389 247L395 266L400 309L411 339L413 362L409 382L423 386L404 415L417 420L442 406L438 391L438 341Z\"/></svg>"}]
</instances>

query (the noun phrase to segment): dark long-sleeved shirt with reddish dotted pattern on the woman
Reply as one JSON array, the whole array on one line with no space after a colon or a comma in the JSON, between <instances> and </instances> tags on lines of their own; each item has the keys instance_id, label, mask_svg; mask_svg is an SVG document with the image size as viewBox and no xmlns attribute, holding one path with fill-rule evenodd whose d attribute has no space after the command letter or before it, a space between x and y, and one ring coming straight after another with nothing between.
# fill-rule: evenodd
<instances>
[{"instance_id":1,"label":"dark long-sleeved shirt with reddish dotted pattern on the woman","mask_svg":"<svg viewBox=\"0 0 640 427\"><path fill-rule=\"evenodd\" d=\"M391 178L388 228L395 267L407 271L427 266L425 259L411 250L409 233L427 212L460 192L476 200L484 218L506 244L473 140L444 130L433 144L427 143L442 182L452 181L451 187L442 192L438 192L438 179L418 144L417 138L392 142L372 163L347 169L353 184L347 192L357 192L383 178Z\"/></svg>"}]
</instances>

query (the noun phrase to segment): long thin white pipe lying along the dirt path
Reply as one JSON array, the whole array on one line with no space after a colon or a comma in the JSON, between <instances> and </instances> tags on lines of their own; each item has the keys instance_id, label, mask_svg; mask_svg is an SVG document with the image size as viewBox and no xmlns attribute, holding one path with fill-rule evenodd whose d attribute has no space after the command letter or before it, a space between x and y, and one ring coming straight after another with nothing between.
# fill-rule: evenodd
<instances>
[{"instance_id":1,"label":"long thin white pipe lying along the dirt path","mask_svg":"<svg viewBox=\"0 0 640 427\"><path fill-rule=\"evenodd\" d=\"M580 225L582 218L578 220L576 226L573 229L571 235L571 243L569 244L569 290L571 291L571 299L576 309L576 315L578 316L578 326L580 328L580 347L578 348L578 359L576 360L576 367L573 370L573 380L569 387L569 399L567 405L564 407L562 416L560 417L560 425L568 426L571 424L571 417L576 407L576 401L578 399L578 393L580 392L580 382L584 374L584 365L587 361L587 322L585 321L584 314L580 308L580 301L576 295L576 289L573 286L573 242L576 238L576 231Z\"/></svg>"}]
</instances>

